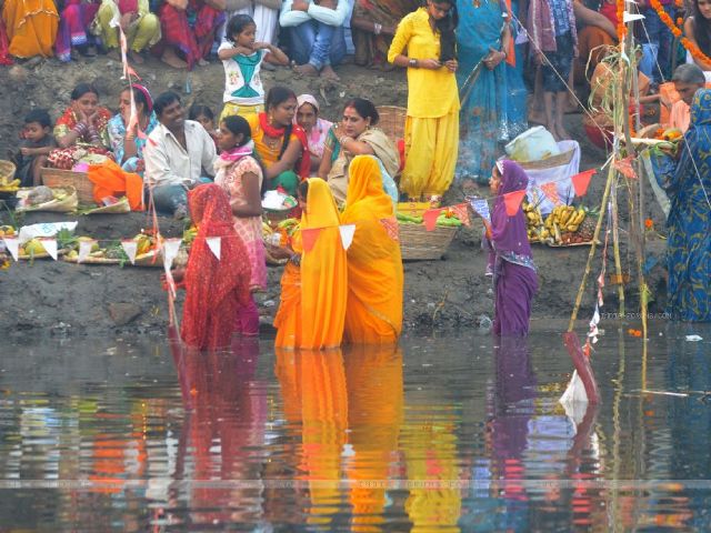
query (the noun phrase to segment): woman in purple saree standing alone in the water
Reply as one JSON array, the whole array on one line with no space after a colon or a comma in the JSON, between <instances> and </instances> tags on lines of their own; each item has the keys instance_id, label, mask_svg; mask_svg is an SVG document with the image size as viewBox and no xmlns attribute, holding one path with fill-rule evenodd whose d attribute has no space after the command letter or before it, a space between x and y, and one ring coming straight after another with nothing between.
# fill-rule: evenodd
<instances>
[{"instance_id":1,"label":"woman in purple saree standing alone in the water","mask_svg":"<svg viewBox=\"0 0 711 533\"><path fill-rule=\"evenodd\" d=\"M503 197L525 190L528 183L525 171L513 161L499 161L492 171L490 185L497 198L484 247L489 250L491 272L488 273L493 274L493 332L497 335L528 334L531 301L538 291L525 217L521 207L513 217L509 217Z\"/></svg>"}]
</instances>

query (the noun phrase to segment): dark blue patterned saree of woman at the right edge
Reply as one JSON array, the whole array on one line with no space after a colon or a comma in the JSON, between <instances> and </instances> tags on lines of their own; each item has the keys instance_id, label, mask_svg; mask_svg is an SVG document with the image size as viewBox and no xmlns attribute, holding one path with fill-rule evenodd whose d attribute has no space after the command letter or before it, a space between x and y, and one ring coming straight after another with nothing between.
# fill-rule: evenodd
<instances>
[{"instance_id":1,"label":"dark blue patterned saree of woman at the right edge","mask_svg":"<svg viewBox=\"0 0 711 533\"><path fill-rule=\"evenodd\" d=\"M668 312L672 320L711 321L711 90L691 104L688 150L668 188Z\"/></svg>"}]
</instances>

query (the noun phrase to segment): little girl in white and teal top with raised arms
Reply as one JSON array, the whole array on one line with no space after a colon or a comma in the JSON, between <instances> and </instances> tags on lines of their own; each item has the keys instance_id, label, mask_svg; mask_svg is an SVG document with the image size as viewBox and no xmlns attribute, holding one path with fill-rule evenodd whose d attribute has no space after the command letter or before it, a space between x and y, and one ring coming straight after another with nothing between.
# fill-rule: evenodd
<instances>
[{"instance_id":1,"label":"little girl in white and teal top with raised arms","mask_svg":"<svg viewBox=\"0 0 711 533\"><path fill-rule=\"evenodd\" d=\"M220 113L220 122L233 114L248 118L263 112L262 61L289 64L287 54L273 44L254 42L256 33L257 24L249 14L237 14L228 22L227 39L218 49L218 57L224 67L224 108Z\"/></svg>"}]
</instances>

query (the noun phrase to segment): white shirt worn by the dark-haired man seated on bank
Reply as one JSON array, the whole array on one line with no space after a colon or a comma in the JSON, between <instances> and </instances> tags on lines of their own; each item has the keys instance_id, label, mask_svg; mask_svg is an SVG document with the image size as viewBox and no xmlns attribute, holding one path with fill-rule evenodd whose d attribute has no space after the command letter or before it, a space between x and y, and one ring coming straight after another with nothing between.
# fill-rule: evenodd
<instances>
[{"instance_id":1,"label":"white shirt worn by the dark-haired man seated on bank","mask_svg":"<svg viewBox=\"0 0 711 533\"><path fill-rule=\"evenodd\" d=\"M186 151L163 124L158 124L143 148L146 180L156 185L192 185L204 174L214 175L214 141L199 122L186 120Z\"/></svg>"}]
</instances>

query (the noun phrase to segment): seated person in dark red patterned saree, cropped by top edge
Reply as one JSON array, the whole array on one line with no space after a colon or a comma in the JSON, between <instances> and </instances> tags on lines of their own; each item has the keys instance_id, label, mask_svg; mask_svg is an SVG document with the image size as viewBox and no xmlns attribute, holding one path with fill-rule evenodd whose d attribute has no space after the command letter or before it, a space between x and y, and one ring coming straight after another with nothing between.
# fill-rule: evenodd
<instances>
[{"instance_id":1,"label":"seated person in dark red patterned saree, cropped by top edge","mask_svg":"<svg viewBox=\"0 0 711 533\"><path fill-rule=\"evenodd\" d=\"M158 11L161 60L177 69L207 64L214 31L224 22L224 0L166 0Z\"/></svg>"}]
</instances>

